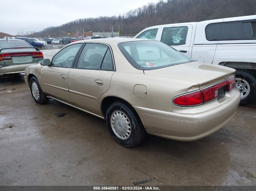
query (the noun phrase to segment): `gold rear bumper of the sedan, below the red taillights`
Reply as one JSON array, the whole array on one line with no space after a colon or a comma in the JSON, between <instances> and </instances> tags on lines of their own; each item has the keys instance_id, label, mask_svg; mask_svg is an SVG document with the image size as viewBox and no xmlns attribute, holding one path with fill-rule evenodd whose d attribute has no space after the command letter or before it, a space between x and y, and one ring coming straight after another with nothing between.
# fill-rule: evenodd
<instances>
[{"instance_id":1,"label":"gold rear bumper of the sedan, below the red taillights","mask_svg":"<svg viewBox=\"0 0 256 191\"><path fill-rule=\"evenodd\" d=\"M203 110L199 108L201 106L184 110L177 106L177 110L171 112L133 107L148 134L178 141L194 141L218 131L234 117L240 102L240 92L234 89L228 96L228 100L222 103L216 103L215 100L215 105L204 104Z\"/></svg>"}]
</instances>

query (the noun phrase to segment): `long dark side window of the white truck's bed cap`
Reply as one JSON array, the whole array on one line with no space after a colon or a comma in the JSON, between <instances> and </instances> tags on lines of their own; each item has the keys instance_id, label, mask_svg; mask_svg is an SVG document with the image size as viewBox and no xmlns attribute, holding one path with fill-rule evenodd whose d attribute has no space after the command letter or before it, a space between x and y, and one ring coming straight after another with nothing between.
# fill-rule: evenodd
<instances>
[{"instance_id":1,"label":"long dark side window of the white truck's bed cap","mask_svg":"<svg viewBox=\"0 0 256 191\"><path fill-rule=\"evenodd\" d=\"M256 21L214 23L206 27L207 40L256 39Z\"/></svg>"}]
</instances>

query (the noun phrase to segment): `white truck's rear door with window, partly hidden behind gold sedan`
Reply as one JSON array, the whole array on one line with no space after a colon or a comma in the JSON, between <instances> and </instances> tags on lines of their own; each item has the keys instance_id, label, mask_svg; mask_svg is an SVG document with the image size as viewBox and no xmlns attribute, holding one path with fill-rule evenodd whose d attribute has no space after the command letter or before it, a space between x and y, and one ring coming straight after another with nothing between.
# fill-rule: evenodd
<instances>
[{"instance_id":1,"label":"white truck's rear door with window, partly hidden behind gold sedan","mask_svg":"<svg viewBox=\"0 0 256 191\"><path fill-rule=\"evenodd\" d=\"M156 40L159 40L168 46L175 48L186 56L189 56L189 51L192 49L192 29L193 27L191 24L162 26L160 35Z\"/></svg>"}]
</instances>

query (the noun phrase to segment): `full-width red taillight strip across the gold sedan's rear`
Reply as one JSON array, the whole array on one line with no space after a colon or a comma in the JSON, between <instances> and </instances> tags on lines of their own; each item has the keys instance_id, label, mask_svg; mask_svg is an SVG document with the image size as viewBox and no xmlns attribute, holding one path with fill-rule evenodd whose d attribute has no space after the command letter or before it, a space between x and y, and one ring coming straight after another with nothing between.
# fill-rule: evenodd
<instances>
[{"instance_id":1,"label":"full-width red taillight strip across the gold sedan's rear","mask_svg":"<svg viewBox=\"0 0 256 191\"><path fill-rule=\"evenodd\" d=\"M178 106L196 106L203 103L216 100L218 98L218 89L225 86L226 92L230 92L235 85L235 76L228 80L222 81L218 84L214 84L208 88L193 91L191 93L182 94L173 99L173 103Z\"/></svg>"}]
</instances>

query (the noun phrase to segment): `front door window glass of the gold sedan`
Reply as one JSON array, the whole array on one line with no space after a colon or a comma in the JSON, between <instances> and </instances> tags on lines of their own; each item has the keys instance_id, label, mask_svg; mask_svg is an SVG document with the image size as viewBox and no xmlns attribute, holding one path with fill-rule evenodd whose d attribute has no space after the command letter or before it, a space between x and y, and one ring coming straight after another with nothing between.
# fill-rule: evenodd
<instances>
[{"instance_id":1,"label":"front door window glass of the gold sedan","mask_svg":"<svg viewBox=\"0 0 256 191\"><path fill-rule=\"evenodd\" d=\"M81 46L82 46L82 43L72 44L62 49L52 58L51 65L70 68Z\"/></svg>"}]
</instances>

